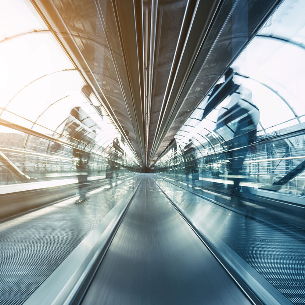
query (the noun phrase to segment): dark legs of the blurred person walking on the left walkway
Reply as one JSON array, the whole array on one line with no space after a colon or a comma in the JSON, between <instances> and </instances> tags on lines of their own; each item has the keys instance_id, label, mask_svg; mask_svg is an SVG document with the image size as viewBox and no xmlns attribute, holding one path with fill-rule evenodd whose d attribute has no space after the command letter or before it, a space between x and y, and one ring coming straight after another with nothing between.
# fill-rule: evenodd
<instances>
[{"instance_id":1,"label":"dark legs of the blurred person walking on the left walkway","mask_svg":"<svg viewBox=\"0 0 305 305\"><path fill-rule=\"evenodd\" d=\"M88 181L88 154L86 152L81 152L74 149L73 152L77 171L77 180L78 180L78 189L80 197L76 200L75 203L81 203L87 199L86 197L86 186Z\"/></svg>"}]
</instances>

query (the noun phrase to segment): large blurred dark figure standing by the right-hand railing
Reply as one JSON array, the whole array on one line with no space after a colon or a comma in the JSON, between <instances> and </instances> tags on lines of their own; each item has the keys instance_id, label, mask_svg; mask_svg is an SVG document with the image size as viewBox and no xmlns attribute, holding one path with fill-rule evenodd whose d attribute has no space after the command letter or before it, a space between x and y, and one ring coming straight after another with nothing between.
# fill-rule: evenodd
<instances>
[{"instance_id":1,"label":"large blurred dark figure standing by the right-hand railing","mask_svg":"<svg viewBox=\"0 0 305 305\"><path fill-rule=\"evenodd\" d=\"M228 176L231 175L233 186L228 191L238 195L241 191L242 167L248 152L256 152L253 144L256 142L257 124L260 111L252 102L252 92L249 88L235 84L233 81L233 69L229 68L225 73L225 82L217 84L210 95L210 102L203 113L203 118L225 98L230 97L227 106L222 107L217 118L217 133L225 133L227 140L224 144L228 152L225 153ZM220 88L222 86L222 88ZM219 91L217 92L217 90ZM216 93L217 92L217 93ZM216 94L214 97L213 95ZM216 100L215 100L216 99ZM222 127L228 127L220 131Z\"/></svg>"}]
</instances>

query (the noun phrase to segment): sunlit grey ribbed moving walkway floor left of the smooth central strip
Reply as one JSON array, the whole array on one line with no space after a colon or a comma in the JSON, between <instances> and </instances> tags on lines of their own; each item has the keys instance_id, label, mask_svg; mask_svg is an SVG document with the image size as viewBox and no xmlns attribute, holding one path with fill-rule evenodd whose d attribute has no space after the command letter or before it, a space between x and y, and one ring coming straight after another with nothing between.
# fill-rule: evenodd
<instances>
[{"instance_id":1,"label":"sunlit grey ribbed moving walkway floor left of the smooth central strip","mask_svg":"<svg viewBox=\"0 0 305 305\"><path fill-rule=\"evenodd\" d=\"M59 266L116 202L133 193L133 179L91 191L75 205L71 198L1 224L0 304L22 304Z\"/></svg>"}]
</instances>

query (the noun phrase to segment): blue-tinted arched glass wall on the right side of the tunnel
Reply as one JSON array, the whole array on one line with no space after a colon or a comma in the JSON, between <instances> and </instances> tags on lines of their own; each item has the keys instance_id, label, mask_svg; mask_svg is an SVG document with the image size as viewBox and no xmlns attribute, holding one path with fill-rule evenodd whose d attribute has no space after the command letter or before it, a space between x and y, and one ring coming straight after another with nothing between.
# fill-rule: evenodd
<instances>
[{"instance_id":1,"label":"blue-tinted arched glass wall on the right side of the tunnel","mask_svg":"<svg viewBox=\"0 0 305 305\"><path fill-rule=\"evenodd\" d=\"M246 188L304 194L303 10L292 0L278 6L155 169L240 196Z\"/></svg>"}]
</instances>

